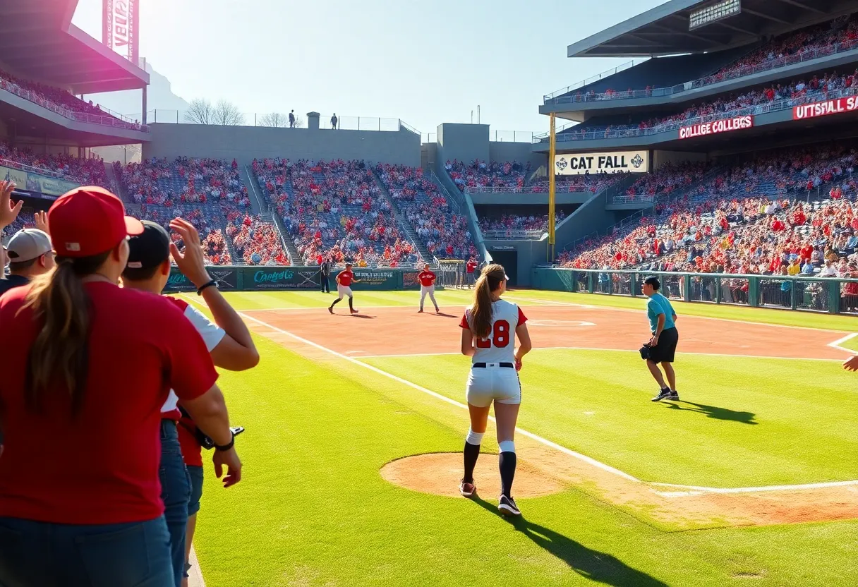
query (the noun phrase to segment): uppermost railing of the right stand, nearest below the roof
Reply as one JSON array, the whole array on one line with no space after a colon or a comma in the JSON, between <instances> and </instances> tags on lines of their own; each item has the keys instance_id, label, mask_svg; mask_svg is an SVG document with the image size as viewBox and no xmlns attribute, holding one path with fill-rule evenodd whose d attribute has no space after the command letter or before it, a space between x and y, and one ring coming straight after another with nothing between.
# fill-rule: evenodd
<instances>
[{"instance_id":1,"label":"uppermost railing of the right stand, nearest below the roof","mask_svg":"<svg viewBox=\"0 0 858 587\"><path fill-rule=\"evenodd\" d=\"M788 55L785 57L779 57L776 59L768 59L761 64L756 65L746 65L744 67L738 67L734 70L724 71L723 73L716 73L711 76L706 76L700 78L698 80L694 80L692 82L685 82L676 84L675 86L670 86L668 88L650 88L643 90L626 90L625 92L603 92L601 94L595 93L587 93L580 95L558 95L558 92L554 92L553 94L547 94L543 96L543 104L575 104L581 102L598 102L604 100L630 100L635 98L653 98L653 97L662 97L662 96L670 96L673 94L680 94L682 92L687 92L688 90L704 88L705 86L710 86L714 83L719 82L727 82L729 80L738 79L740 77L752 76L753 74L761 73L763 71L775 70L779 67L784 67L786 65L795 65L801 64L806 61L811 61L813 59L819 59L819 57L828 57L831 55L837 55L838 53L843 53L845 51L852 51L858 47L858 39L845 41L843 43L835 43L834 45L826 45L825 47L817 47L815 49L808 49L807 51L802 51L801 53L796 53L795 55ZM628 69L628 68L625 68ZM593 80L594 82L597 81ZM590 82L591 83L591 82ZM583 87L583 86L578 86ZM577 88L569 88L567 92L564 94L568 94L571 91L574 91Z\"/></svg>"}]
</instances>

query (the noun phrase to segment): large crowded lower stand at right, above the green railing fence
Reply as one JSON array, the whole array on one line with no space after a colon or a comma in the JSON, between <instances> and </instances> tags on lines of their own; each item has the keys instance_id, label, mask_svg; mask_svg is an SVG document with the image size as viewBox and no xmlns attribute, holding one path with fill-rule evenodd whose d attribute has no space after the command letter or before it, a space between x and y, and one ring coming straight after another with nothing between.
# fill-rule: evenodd
<instances>
[{"instance_id":1,"label":"large crowded lower stand at right, above the green railing fence","mask_svg":"<svg viewBox=\"0 0 858 587\"><path fill-rule=\"evenodd\" d=\"M687 183L689 168L698 164L671 166L652 174L659 179L637 183L656 192L650 216L585 239L561 253L559 264L820 275L831 259L836 272L821 275L848 276L849 263L858 263L856 159L851 146L781 149L716 169L713 179L688 193L677 186ZM811 197L814 190L819 197ZM678 196L672 198L674 191Z\"/></svg>"}]
</instances>

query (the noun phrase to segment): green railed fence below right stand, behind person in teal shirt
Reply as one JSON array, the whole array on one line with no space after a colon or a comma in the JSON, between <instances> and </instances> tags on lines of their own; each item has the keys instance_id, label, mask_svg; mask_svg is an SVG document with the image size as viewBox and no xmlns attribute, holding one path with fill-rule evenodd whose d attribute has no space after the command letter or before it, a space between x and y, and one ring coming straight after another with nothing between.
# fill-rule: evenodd
<instances>
[{"instance_id":1,"label":"green railed fence below right stand, behind person in teal shirt","mask_svg":"<svg viewBox=\"0 0 858 587\"><path fill-rule=\"evenodd\" d=\"M648 275L662 281L671 300L858 315L858 279L537 268L532 282L536 289L643 297Z\"/></svg>"}]
</instances>

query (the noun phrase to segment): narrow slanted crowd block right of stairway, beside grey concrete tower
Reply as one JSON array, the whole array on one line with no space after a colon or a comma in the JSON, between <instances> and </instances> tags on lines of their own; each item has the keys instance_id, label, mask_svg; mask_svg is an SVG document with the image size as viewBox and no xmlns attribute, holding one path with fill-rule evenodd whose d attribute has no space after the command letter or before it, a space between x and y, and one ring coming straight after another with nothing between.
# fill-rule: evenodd
<instances>
[{"instance_id":1,"label":"narrow slanted crowd block right of stairway, beside grey concrete tower","mask_svg":"<svg viewBox=\"0 0 858 587\"><path fill-rule=\"evenodd\" d=\"M476 254L467 217L453 211L422 169L379 163L376 171L432 257L467 259Z\"/></svg>"}]
</instances>

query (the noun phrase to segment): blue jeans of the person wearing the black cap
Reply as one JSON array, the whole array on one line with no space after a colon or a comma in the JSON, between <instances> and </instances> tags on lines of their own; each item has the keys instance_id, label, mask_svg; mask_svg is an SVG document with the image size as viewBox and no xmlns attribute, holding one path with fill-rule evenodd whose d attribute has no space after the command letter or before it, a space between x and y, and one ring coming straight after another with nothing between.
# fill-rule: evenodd
<instances>
[{"instance_id":1,"label":"blue jeans of the person wearing the black cap","mask_svg":"<svg viewBox=\"0 0 858 587\"><path fill-rule=\"evenodd\" d=\"M178 445L176 422L161 421L161 499L164 501L164 519L170 532L170 554L176 587L181 587L184 573L184 533L188 528L188 501L190 479L184 466L182 449Z\"/></svg>"}]
</instances>

